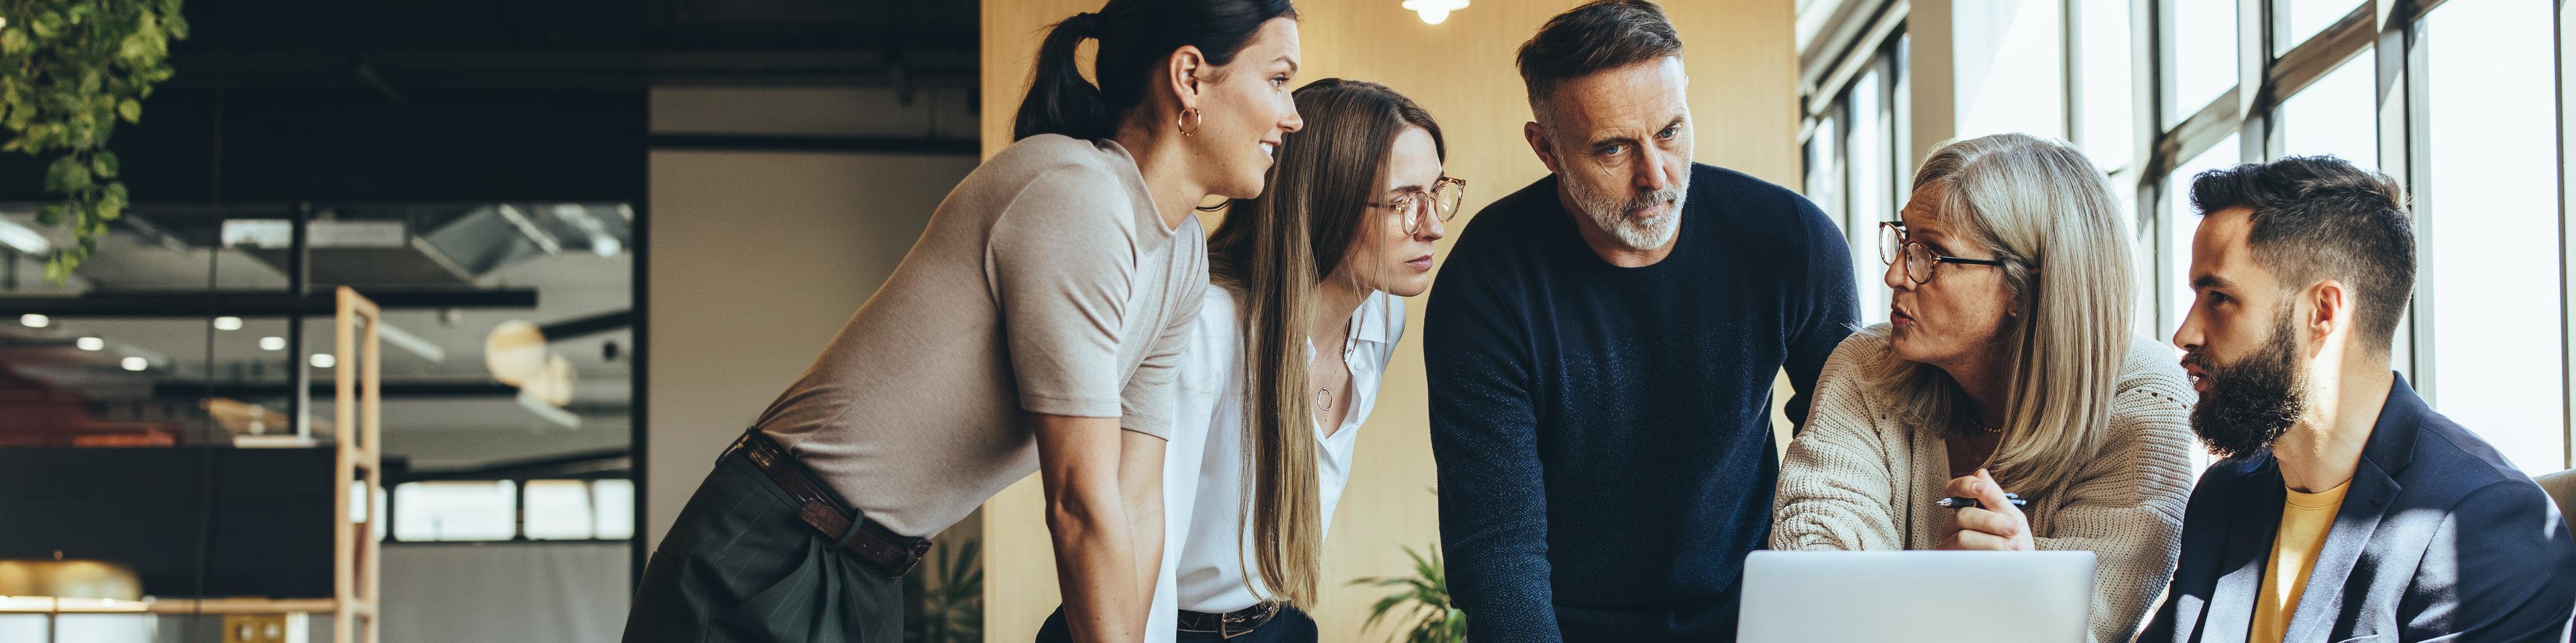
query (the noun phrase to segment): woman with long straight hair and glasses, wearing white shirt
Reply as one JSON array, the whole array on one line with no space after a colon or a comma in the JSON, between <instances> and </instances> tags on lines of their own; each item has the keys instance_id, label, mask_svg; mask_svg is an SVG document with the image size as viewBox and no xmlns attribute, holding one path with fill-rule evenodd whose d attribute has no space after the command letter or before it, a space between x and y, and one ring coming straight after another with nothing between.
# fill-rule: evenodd
<instances>
[{"instance_id":1,"label":"woman with long straight hair and glasses, wearing white shirt","mask_svg":"<svg viewBox=\"0 0 2576 643\"><path fill-rule=\"evenodd\" d=\"M1154 592L1177 640L1316 640L1301 610L1332 507L1463 195L1440 123L1386 85L1316 80L1296 108L1270 188L1208 237L1213 288L1180 360Z\"/></svg>"}]
</instances>

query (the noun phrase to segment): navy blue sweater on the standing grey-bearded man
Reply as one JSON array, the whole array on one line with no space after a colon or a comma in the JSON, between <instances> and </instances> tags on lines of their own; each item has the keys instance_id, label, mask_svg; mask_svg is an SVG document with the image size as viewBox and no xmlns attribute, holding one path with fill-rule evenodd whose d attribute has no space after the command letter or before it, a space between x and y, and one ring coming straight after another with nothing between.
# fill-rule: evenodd
<instances>
[{"instance_id":1,"label":"navy blue sweater on the standing grey-bearded man","mask_svg":"<svg viewBox=\"0 0 2576 643\"><path fill-rule=\"evenodd\" d=\"M1806 422L1852 309L1839 229L1734 170L1692 167L1680 244L1646 267L1592 255L1553 175L1476 213L1422 332L1473 640L1734 640L1770 538L1772 373Z\"/></svg>"}]
</instances>

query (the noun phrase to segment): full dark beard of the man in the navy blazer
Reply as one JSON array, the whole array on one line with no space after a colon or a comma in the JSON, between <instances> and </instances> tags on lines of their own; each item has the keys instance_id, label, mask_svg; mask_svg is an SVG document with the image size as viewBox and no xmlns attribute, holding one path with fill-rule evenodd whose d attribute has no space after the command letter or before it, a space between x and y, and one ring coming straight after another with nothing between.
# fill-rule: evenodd
<instances>
[{"instance_id":1,"label":"full dark beard of the man in the navy blazer","mask_svg":"<svg viewBox=\"0 0 2576 643\"><path fill-rule=\"evenodd\" d=\"M2308 412L2308 370L2298 365L2290 316L2254 355L2218 365L2208 352L2182 358L2200 368L2208 391L2192 406L2192 432L2218 458L2241 458L2272 448Z\"/></svg>"}]
</instances>

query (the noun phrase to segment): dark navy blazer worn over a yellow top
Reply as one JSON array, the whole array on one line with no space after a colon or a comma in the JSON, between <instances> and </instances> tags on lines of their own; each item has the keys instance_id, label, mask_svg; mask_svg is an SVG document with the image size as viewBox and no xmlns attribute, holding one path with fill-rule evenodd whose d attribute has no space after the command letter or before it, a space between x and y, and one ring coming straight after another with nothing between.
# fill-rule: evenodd
<instances>
[{"instance_id":1,"label":"dark navy blazer worn over a yellow top","mask_svg":"<svg viewBox=\"0 0 2576 643\"><path fill-rule=\"evenodd\" d=\"M2239 643L2254 622L2285 489L2269 450L2210 466L2143 643ZM2401 376L2285 640L2561 640L2576 543L2550 496Z\"/></svg>"}]
</instances>

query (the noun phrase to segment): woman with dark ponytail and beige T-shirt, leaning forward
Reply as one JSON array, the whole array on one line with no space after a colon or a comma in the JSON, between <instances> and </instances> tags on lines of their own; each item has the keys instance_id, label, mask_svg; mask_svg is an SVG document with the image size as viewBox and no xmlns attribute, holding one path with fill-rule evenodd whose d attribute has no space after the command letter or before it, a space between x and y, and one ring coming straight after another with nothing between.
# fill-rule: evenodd
<instances>
[{"instance_id":1,"label":"woman with dark ponytail and beige T-shirt, leaning forward","mask_svg":"<svg viewBox=\"0 0 2576 643\"><path fill-rule=\"evenodd\" d=\"M1092 77L1074 59L1097 41ZM1195 206L1301 126L1288 0L1113 0L1056 23L1015 144L734 440L644 568L626 640L902 640L933 535L1038 473L1072 640L1141 640Z\"/></svg>"}]
</instances>

